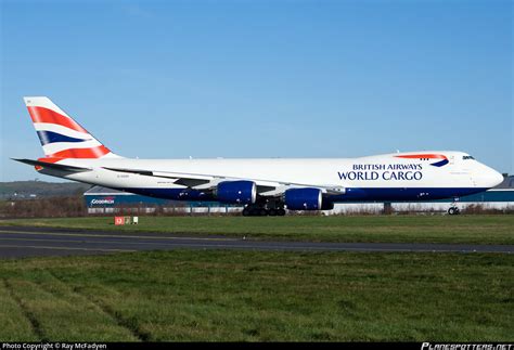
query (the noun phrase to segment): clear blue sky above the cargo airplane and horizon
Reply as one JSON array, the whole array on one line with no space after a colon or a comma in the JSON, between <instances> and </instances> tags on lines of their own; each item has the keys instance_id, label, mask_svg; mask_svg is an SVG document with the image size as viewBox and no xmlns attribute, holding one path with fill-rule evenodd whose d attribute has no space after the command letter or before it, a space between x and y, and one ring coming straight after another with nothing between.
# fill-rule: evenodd
<instances>
[{"instance_id":1,"label":"clear blue sky above the cargo airplane and horizon","mask_svg":"<svg viewBox=\"0 0 514 350\"><path fill-rule=\"evenodd\" d=\"M468 152L514 172L511 1L1 4L0 181L48 95L128 157ZM59 180L57 180L59 181Z\"/></svg>"}]
</instances>

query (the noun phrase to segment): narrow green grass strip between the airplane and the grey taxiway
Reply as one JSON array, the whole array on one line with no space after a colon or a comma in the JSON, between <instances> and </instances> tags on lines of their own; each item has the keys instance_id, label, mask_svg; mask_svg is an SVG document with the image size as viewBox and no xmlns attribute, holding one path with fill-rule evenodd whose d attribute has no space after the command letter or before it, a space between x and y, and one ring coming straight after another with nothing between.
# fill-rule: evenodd
<instances>
[{"instance_id":1,"label":"narrow green grass strip between the airplane and the grey taxiway","mask_svg":"<svg viewBox=\"0 0 514 350\"><path fill-rule=\"evenodd\" d=\"M0 225L40 225L130 232L243 235L262 239L388 243L514 244L514 216L355 217L141 217L115 226L114 218L0 220Z\"/></svg>"}]
</instances>

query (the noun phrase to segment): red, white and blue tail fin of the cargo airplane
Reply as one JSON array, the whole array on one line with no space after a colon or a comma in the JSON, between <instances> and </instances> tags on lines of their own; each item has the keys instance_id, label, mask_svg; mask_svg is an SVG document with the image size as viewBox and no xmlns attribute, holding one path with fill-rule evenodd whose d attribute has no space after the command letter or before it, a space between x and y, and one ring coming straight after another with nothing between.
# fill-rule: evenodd
<instances>
[{"instance_id":1,"label":"red, white and blue tail fin of the cargo airplane","mask_svg":"<svg viewBox=\"0 0 514 350\"><path fill-rule=\"evenodd\" d=\"M48 98L24 98L46 158L56 163L66 158L116 157L91 133Z\"/></svg>"}]
</instances>

